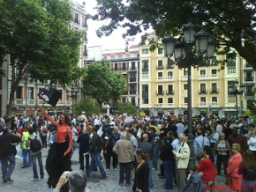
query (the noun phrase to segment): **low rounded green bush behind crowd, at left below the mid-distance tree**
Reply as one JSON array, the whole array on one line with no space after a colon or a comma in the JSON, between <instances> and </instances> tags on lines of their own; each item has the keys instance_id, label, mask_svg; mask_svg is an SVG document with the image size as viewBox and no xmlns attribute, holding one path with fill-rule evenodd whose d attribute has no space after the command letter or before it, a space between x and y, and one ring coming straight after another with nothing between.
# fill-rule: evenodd
<instances>
[{"instance_id":1,"label":"low rounded green bush behind crowd, at left below the mid-distance tree","mask_svg":"<svg viewBox=\"0 0 256 192\"><path fill-rule=\"evenodd\" d=\"M100 114L101 107L92 97L86 96L85 99L78 100L74 104L74 114L80 115L82 111L85 111L88 115Z\"/></svg>"}]
</instances>

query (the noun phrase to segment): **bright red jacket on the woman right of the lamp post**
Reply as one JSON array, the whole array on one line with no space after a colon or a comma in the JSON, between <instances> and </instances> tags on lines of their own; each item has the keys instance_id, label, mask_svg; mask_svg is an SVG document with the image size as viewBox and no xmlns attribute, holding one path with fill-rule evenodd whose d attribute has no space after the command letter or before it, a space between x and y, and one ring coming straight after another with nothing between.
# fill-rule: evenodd
<instances>
[{"instance_id":1,"label":"bright red jacket on the woman right of the lamp post","mask_svg":"<svg viewBox=\"0 0 256 192\"><path fill-rule=\"evenodd\" d=\"M199 162L198 171L203 172L202 180L204 182L214 181L216 177L215 164L211 159L202 159Z\"/></svg>"}]
</instances>

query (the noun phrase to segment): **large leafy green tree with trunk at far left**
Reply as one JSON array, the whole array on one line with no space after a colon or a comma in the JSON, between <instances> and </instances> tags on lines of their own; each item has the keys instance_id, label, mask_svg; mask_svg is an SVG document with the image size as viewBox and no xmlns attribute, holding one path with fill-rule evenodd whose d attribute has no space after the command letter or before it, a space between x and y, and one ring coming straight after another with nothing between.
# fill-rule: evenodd
<instances>
[{"instance_id":1,"label":"large leafy green tree with trunk at far left","mask_svg":"<svg viewBox=\"0 0 256 192\"><path fill-rule=\"evenodd\" d=\"M10 55L11 65L10 114L22 78L63 86L79 78L74 74L81 74L77 63L83 33L68 28L68 0L4 0L0 9L0 56Z\"/></svg>"}]
</instances>

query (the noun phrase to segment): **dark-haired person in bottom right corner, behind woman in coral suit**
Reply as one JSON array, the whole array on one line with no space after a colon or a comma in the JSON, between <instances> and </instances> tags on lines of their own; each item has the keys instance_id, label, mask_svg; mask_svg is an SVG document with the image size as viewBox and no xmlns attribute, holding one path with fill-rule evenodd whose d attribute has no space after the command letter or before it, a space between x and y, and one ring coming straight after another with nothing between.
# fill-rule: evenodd
<instances>
[{"instance_id":1,"label":"dark-haired person in bottom right corner, behind woman in coral suit","mask_svg":"<svg viewBox=\"0 0 256 192\"><path fill-rule=\"evenodd\" d=\"M256 162L252 151L245 151L245 159L239 164L237 174L243 174L241 192L256 190Z\"/></svg>"}]
</instances>

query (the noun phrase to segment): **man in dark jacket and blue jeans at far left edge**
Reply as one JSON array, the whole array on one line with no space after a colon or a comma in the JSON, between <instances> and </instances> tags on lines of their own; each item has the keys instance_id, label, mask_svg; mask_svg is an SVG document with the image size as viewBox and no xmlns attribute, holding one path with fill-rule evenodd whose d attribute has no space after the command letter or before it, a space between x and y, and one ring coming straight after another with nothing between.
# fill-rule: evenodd
<instances>
[{"instance_id":1,"label":"man in dark jacket and blue jeans at far left edge","mask_svg":"<svg viewBox=\"0 0 256 192\"><path fill-rule=\"evenodd\" d=\"M0 161L2 164L2 178L4 182L11 181L11 174L15 167L16 145L19 144L19 136L11 134L7 127L3 128L0 136ZM9 168L7 168L9 162Z\"/></svg>"}]
</instances>

